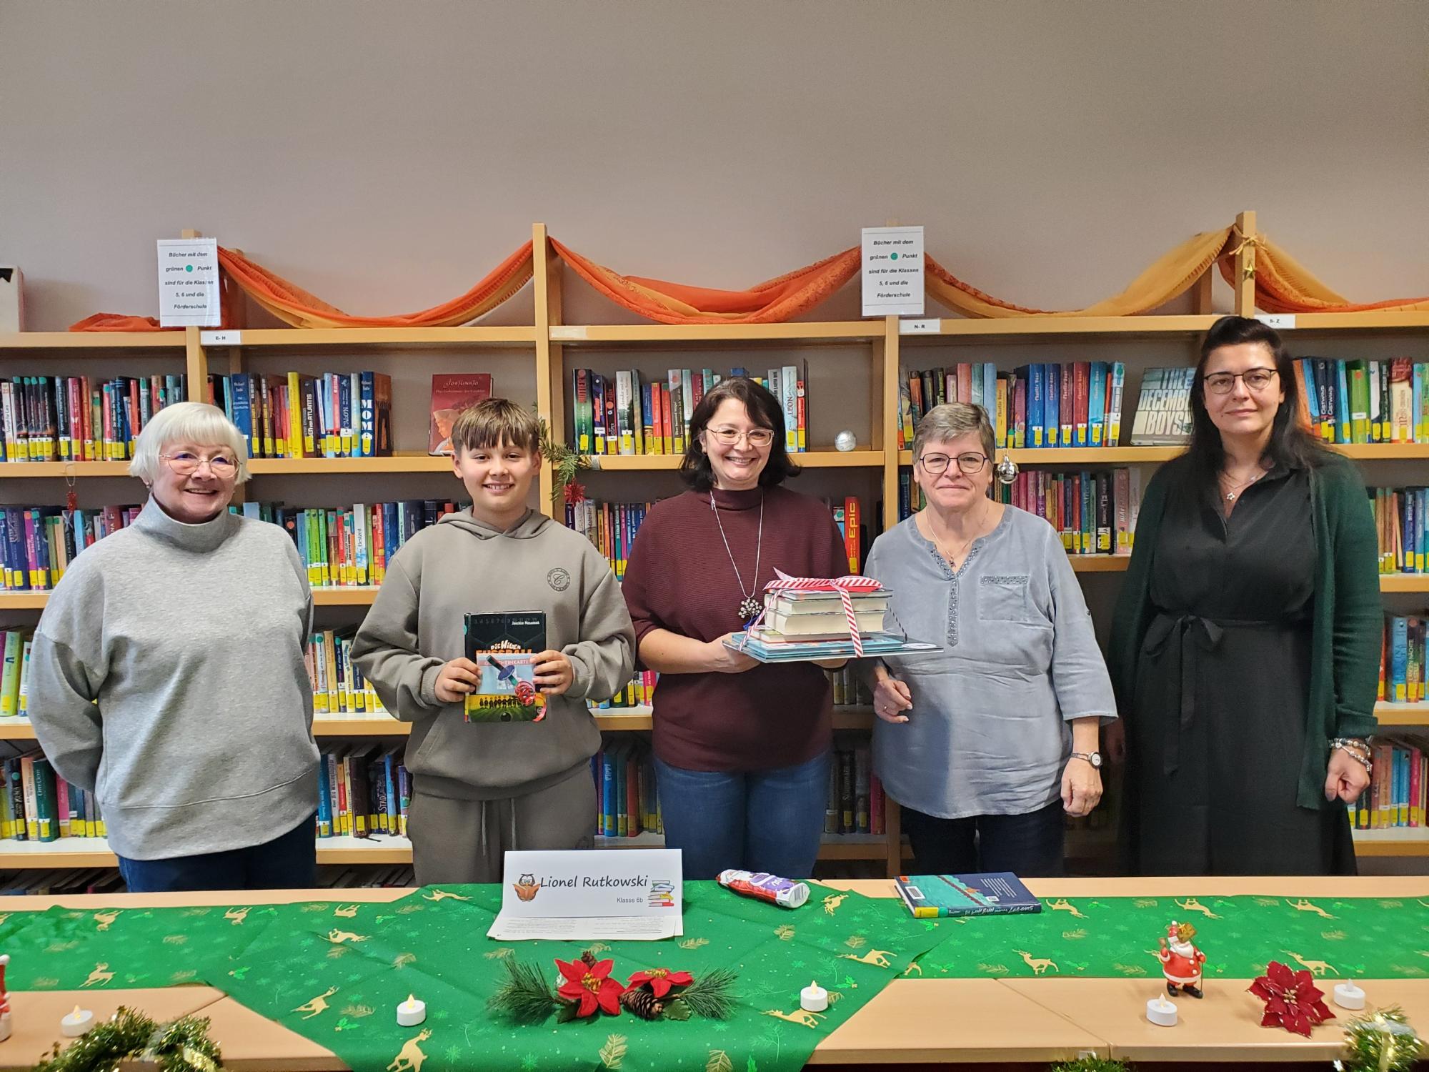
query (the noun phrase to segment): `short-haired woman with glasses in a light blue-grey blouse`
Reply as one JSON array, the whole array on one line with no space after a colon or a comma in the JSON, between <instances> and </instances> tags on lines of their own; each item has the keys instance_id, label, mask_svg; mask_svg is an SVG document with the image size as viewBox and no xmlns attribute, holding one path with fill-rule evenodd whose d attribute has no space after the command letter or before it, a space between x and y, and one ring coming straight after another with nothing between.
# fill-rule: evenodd
<instances>
[{"instance_id":1,"label":"short-haired woman with glasses in a light blue-grey blouse","mask_svg":"<svg viewBox=\"0 0 1429 1072\"><path fill-rule=\"evenodd\" d=\"M1100 800L1099 728L1116 718L1092 616L1052 526L989 497L979 406L929 410L913 459L927 506L865 572L893 592L890 625L942 650L873 665L875 770L919 873L1060 875L1063 812Z\"/></svg>"}]
</instances>

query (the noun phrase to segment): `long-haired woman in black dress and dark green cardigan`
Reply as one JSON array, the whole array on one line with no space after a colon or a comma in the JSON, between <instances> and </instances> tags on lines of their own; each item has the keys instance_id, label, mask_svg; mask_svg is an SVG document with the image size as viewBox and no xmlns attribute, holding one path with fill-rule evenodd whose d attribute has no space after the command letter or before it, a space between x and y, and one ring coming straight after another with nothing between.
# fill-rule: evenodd
<instances>
[{"instance_id":1,"label":"long-haired woman in black dress and dark green cardigan","mask_svg":"<svg viewBox=\"0 0 1429 1072\"><path fill-rule=\"evenodd\" d=\"M1355 873L1378 537L1359 473L1298 407L1276 332L1218 320L1190 447L1146 487L1112 626L1130 873Z\"/></svg>"}]
</instances>

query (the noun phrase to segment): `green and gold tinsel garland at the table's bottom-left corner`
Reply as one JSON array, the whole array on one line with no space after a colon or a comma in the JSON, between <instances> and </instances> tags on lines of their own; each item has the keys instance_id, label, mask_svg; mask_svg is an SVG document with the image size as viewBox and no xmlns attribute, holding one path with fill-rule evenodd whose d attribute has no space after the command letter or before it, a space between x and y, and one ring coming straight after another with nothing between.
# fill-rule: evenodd
<instances>
[{"instance_id":1,"label":"green and gold tinsel garland at the table's bottom-left corner","mask_svg":"<svg viewBox=\"0 0 1429 1072\"><path fill-rule=\"evenodd\" d=\"M219 1072L223 1055L209 1038L209 1021L181 1016L159 1023L134 1009L120 1008L107 1023L74 1039L67 1048L56 1043L40 1058L34 1072L99 1072L126 1059L156 1063L161 1072Z\"/></svg>"}]
</instances>

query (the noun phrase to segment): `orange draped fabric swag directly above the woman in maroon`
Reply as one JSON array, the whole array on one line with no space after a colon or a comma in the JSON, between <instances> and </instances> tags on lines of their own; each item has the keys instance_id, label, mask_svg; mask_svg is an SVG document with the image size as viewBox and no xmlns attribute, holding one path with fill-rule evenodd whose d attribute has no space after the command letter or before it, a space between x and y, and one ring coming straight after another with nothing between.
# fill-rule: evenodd
<instances>
[{"instance_id":1,"label":"orange draped fabric swag directly above the woman in maroon","mask_svg":"<svg viewBox=\"0 0 1429 1072\"><path fill-rule=\"evenodd\" d=\"M826 300L859 270L859 247L797 272L759 283L749 290L710 290L619 272L550 240L572 270L616 304L664 324L766 324L792 320Z\"/></svg>"}]
</instances>

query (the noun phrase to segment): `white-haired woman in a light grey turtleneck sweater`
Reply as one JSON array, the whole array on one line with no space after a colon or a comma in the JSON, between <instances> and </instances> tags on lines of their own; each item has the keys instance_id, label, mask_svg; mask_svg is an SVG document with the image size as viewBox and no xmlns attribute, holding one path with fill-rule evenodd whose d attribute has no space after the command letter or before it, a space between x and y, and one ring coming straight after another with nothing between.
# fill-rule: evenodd
<instances>
[{"instance_id":1,"label":"white-haired woman in a light grey turtleneck sweater","mask_svg":"<svg viewBox=\"0 0 1429 1072\"><path fill-rule=\"evenodd\" d=\"M94 793L130 890L312 886L317 748L297 549L229 510L243 435L197 402L144 426L149 502L74 559L30 652L34 733Z\"/></svg>"}]
</instances>

